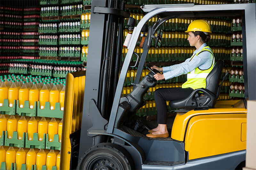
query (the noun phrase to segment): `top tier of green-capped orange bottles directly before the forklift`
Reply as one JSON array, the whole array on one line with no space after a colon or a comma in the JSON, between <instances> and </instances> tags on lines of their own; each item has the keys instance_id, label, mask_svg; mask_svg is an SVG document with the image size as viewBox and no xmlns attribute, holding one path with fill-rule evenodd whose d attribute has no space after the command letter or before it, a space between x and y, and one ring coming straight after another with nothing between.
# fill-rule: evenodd
<instances>
[{"instance_id":1,"label":"top tier of green-capped orange bottles directly before the forklift","mask_svg":"<svg viewBox=\"0 0 256 170\"><path fill-rule=\"evenodd\" d=\"M4 100L8 100L8 106L28 107L33 109L39 105L45 108L45 102L50 103L50 110L55 109L55 103L60 103L59 110L64 110L65 81L60 78L32 77L32 76L1 76L0 107L4 106ZM15 102L16 101L16 102ZM28 106L25 106L28 101ZM38 104L38 101L40 104ZM0 108L1 110L1 108Z\"/></svg>"}]
</instances>

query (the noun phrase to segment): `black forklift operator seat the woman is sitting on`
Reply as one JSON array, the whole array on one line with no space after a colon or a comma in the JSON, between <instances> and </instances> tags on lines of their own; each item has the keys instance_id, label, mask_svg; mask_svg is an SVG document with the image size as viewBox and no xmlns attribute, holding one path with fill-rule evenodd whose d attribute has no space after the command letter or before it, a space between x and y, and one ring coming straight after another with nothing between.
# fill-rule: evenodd
<instances>
[{"instance_id":1,"label":"black forklift operator seat the woman is sitting on","mask_svg":"<svg viewBox=\"0 0 256 170\"><path fill-rule=\"evenodd\" d=\"M224 76L221 84L220 76L223 68L223 60L218 60L211 72L206 77L206 87L195 89L187 98L180 100L170 101L170 107L172 108L185 108L185 109L203 109L212 108L216 103L216 99L220 95L220 86L222 85L224 79L226 78L228 72ZM201 95L203 92L204 95Z\"/></svg>"}]
</instances>

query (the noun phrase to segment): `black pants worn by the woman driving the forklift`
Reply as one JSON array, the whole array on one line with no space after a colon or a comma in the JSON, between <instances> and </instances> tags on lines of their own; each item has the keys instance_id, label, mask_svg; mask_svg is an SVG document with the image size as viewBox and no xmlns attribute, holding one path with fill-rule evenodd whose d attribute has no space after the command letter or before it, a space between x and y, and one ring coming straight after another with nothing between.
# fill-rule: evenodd
<instances>
[{"instance_id":1,"label":"black pants worn by the woman driving the forklift","mask_svg":"<svg viewBox=\"0 0 256 170\"><path fill-rule=\"evenodd\" d=\"M156 110L157 110L157 123L166 124L167 119L167 101L179 100L187 98L193 92L192 88L159 88L154 93Z\"/></svg>"}]
</instances>

